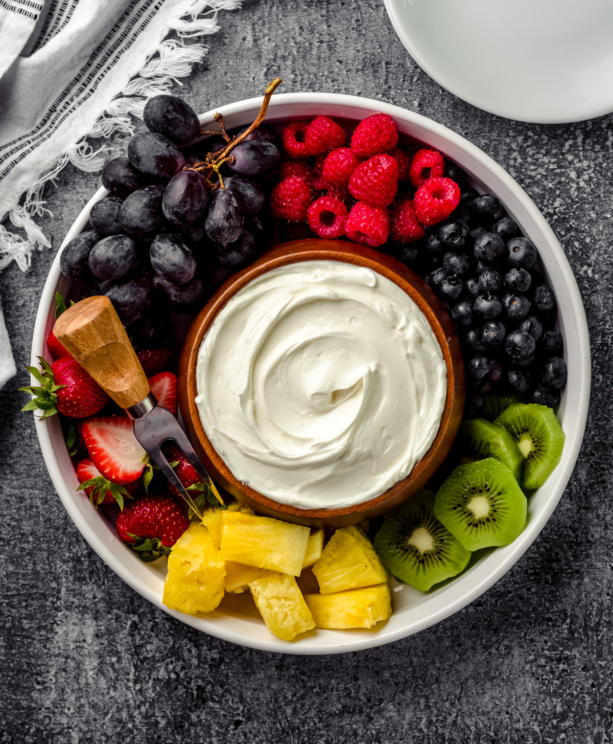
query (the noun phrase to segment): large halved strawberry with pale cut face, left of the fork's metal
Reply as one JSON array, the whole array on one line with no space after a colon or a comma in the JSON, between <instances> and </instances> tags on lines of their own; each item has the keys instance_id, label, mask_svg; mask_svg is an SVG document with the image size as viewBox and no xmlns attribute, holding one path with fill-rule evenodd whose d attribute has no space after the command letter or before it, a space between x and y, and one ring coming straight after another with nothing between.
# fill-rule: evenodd
<instances>
[{"instance_id":1,"label":"large halved strawberry with pale cut face, left of the fork's metal","mask_svg":"<svg viewBox=\"0 0 613 744\"><path fill-rule=\"evenodd\" d=\"M123 416L94 416L83 423L83 440L100 473L113 483L132 483L151 464L134 437L132 420ZM150 480L151 477L149 475Z\"/></svg>"}]
</instances>

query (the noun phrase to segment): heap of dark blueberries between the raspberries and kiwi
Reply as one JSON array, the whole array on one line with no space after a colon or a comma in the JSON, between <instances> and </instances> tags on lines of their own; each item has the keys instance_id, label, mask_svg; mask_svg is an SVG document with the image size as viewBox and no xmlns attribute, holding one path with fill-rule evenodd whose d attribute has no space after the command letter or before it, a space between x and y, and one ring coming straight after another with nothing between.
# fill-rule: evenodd
<instances>
[{"instance_id":1,"label":"heap of dark blueberries between the raspberries and kiwi","mask_svg":"<svg viewBox=\"0 0 613 744\"><path fill-rule=\"evenodd\" d=\"M461 339L471 414L483 393L507 391L554 406L566 382L562 336L554 327L556 298L536 270L536 246L516 222L499 217L500 203L464 185L455 164L446 174L461 187L449 219L415 243L386 250L420 274L443 301Z\"/></svg>"}]
</instances>

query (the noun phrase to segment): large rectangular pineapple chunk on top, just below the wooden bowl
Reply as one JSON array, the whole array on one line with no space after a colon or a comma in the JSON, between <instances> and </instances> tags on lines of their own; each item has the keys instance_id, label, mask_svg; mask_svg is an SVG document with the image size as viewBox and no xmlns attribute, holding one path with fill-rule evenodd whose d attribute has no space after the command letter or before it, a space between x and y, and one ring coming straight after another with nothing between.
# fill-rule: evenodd
<instances>
[{"instance_id":1,"label":"large rectangular pineapple chunk on top, just below the wooden bowl","mask_svg":"<svg viewBox=\"0 0 613 744\"><path fill-rule=\"evenodd\" d=\"M279 519L225 511L221 516L221 557L299 576L310 533L308 527Z\"/></svg>"}]
</instances>

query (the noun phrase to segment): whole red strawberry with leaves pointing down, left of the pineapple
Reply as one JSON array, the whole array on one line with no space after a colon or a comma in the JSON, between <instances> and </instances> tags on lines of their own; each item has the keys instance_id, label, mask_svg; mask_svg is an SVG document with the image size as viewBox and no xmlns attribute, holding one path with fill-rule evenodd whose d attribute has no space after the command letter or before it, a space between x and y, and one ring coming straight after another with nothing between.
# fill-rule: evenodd
<instances>
[{"instance_id":1,"label":"whole red strawberry with leaves pointing down, left of the pineapple","mask_svg":"<svg viewBox=\"0 0 613 744\"><path fill-rule=\"evenodd\" d=\"M117 514L115 527L141 560L151 562L170 553L189 520L172 496L142 496Z\"/></svg>"}]
</instances>

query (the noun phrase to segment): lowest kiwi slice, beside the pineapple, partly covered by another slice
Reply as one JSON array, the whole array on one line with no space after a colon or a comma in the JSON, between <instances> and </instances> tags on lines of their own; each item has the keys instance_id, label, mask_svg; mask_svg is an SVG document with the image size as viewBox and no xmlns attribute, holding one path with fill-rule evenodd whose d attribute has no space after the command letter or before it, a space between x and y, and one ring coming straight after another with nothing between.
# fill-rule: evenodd
<instances>
[{"instance_id":1,"label":"lowest kiwi slice, beside the pineapple, partly covered by another slice","mask_svg":"<svg viewBox=\"0 0 613 744\"><path fill-rule=\"evenodd\" d=\"M433 513L435 494L418 491L386 514L374 550L391 574L419 591L428 591L466 568L470 552Z\"/></svg>"}]
</instances>

